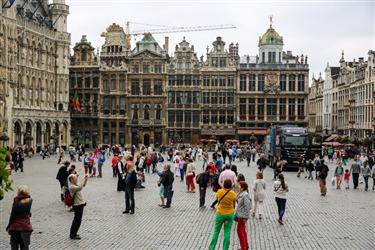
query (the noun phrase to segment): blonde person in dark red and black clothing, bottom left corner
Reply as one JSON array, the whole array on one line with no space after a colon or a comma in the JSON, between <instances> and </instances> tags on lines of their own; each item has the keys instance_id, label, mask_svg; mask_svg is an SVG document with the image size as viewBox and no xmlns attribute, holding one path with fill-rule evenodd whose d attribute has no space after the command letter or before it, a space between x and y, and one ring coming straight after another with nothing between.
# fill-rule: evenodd
<instances>
[{"instance_id":1,"label":"blonde person in dark red and black clothing, bottom left corner","mask_svg":"<svg viewBox=\"0 0 375 250\"><path fill-rule=\"evenodd\" d=\"M13 200L12 211L6 231L10 235L11 249L29 249L30 237L33 231L31 226L31 205L33 200L30 196L30 188L21 185L17 189L17 196Z\"/></svg>"}]
</instances>

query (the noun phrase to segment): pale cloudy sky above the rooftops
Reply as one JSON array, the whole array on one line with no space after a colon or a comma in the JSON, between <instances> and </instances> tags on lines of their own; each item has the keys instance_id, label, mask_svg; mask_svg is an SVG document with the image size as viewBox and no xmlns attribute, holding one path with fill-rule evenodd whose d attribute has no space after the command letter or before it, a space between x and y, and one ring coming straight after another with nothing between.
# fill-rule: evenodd
<instances>
[{"instance_id":1,"label":"pale cloudy sky above the rooftops","mask_svg":"<svg viewBox=\"0 0 375 250\"><path fill-rule=\"evenodd\" d=\"M258 39L269 27L284 37L284 50L309 57L310 78L324 72L329 62L338 64L341 51L346 60L367 58L375 49L374 0L66 0L70 6L68 19L72 44L87 38L100 48L100 37L111 23L127 21L162 26L203 26L233 24L237 28L203 32L155 35L160 45L170 37L170 50L185 36L198 56L206 53L217 36L229 45L239 43L240 55L255 56ZM131 30L158 28L131 24ZM137 39L140 39L138 37ZM134 46L135 40L132 40Z\"/></svg>"}]
</instances>

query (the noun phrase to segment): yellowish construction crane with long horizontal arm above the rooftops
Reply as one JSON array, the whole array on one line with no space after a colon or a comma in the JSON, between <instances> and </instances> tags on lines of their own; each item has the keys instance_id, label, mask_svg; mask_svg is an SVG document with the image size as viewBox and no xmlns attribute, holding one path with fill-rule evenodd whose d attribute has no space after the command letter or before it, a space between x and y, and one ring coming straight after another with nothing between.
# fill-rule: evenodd
<instances>
[{"instance_id":1,"label":"yellowish construction crane with long horizontal arm above the rooftops","mask_svg":"<svg viewBox=\"0 0 375 250\"><path fill-rule=\"evenodd\" d=\"M130 23L148 25L148 26L155 26L155 27L162 27L162 28L130 31ZM173 26L166 26L166 25L127 22L126 23L126 39L127 39L127 45L130 48L131 36L136 37L137 35L143 35L145 33L164 34L164 33L178 33L178 32L195 32L195 31L205 31L205 30L225 30L225 29L235 29L235 28L236 28L236 26L234 26L232 24L173 27Z\"/></svg>"}]
</instances>

